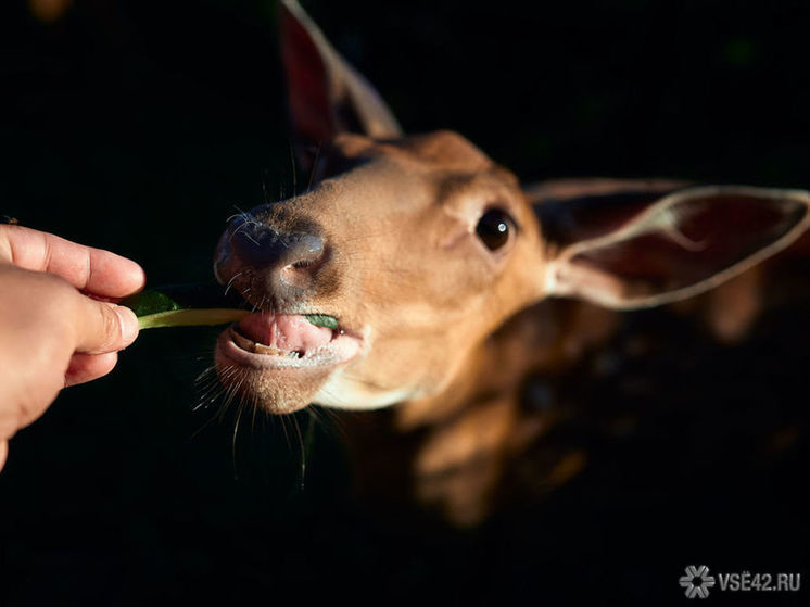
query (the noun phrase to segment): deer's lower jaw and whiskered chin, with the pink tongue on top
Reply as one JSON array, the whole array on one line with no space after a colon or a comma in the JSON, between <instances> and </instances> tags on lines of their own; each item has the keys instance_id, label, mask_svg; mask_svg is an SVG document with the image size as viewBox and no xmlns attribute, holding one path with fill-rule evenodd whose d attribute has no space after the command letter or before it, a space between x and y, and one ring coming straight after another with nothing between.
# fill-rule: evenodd
<instances>
[{"instance_id":1,"label":"deer's lower jaw and whiskered chin, with the pink tongue on top","mask_svg":"<svg viewBox=\"0 0 810 607\"><path fill-rule=\"evenodd\" d=\"M250 314L219 336L215 362L226 388L273 414L306 407L362 339L312 325L299 314Z\"/></svg>"}]
</instances>

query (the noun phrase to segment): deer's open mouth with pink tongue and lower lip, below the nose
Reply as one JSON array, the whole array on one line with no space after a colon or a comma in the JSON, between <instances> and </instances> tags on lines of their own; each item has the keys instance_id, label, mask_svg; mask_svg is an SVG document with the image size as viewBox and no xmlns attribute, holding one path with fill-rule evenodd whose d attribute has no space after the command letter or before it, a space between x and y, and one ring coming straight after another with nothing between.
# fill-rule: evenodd
<instances>
[{"instance_id":1,"label":"deer's open mouth with pink tongue and lower lip, below the nose","mask_svg":"<svg viewBox=\"0 0 810 607\"><path fill-rule=\"evenodd\" d=\"M340 324L321 327L307 316L313 315L249 314L223 332L217 353L240 367L292 370L341 365L359 352L359 338Z\"/></svg>"}]
</instances>

